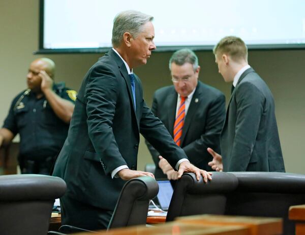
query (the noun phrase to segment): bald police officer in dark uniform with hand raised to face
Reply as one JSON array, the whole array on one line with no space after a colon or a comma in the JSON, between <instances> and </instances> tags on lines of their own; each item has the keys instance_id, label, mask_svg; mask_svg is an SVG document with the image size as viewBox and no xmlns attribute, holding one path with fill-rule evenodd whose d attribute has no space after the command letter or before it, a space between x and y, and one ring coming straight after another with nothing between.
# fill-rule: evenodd
<instances>
[{"instance_id":1,"label":"bald police officer in dark uniform with hand raised to face","mask_svg":"<svg viewBox=\"0 0 305 235\"><path fill-rule=\"evenodd\" d=\"M55 64L48 58L34 60L27 87L12 102L0 129L0 147L19 133L19 165L23 174L49 175L53 161L67 137L76 91L53 81Z\"/></svg>"}]
</instances>

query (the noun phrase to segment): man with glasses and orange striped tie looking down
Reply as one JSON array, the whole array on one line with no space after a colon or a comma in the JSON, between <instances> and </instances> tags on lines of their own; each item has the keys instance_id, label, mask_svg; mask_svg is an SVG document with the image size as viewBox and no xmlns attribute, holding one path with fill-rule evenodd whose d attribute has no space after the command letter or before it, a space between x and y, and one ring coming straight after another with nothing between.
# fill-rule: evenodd
<instances>
[{"instance_id":1,"label":"man with glasses and orange striped tie looking down","mask_svg":"<svg viewBox=\"0 0 305 235\"><path fill-rule=\"evenodd\" d=\"M181 97L186 97L184 125L177 144L194 165L210 170L208 162L212 157L207 152L207 147L213 146L213 149L220 152L219 138L226 115L225 96L216 88L198 81L198 58L189 49L173 53L169 60L169 69L173 85L155 92L151 111L174 137L174 123L179 115L180 100ZM156 164L155 177L175 180L177 172L147 141L146 145Z\"/></svg>"}]
</instances>

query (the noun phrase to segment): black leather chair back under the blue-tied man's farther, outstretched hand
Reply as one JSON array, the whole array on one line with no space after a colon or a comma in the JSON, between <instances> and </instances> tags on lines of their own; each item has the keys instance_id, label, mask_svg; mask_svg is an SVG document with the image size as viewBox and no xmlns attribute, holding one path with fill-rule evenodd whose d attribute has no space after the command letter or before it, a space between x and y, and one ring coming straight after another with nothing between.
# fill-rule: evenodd
<instances>
[{"instance_id":1,"label":"black leather chair back under the blue-tied man's farther, outstretched hand","mask_svg":"<svg viewBox=\"0 0 305 235\"><path fill-rule=\"evenodd\" d=\"M215 172L212 181L207 183L202 178L197 181L193 173L184 174L176 182L166 221L173 221L178 216L224 214L226 193L237 186L237 178L228 173Z\"/></svg>"}]
</instances>

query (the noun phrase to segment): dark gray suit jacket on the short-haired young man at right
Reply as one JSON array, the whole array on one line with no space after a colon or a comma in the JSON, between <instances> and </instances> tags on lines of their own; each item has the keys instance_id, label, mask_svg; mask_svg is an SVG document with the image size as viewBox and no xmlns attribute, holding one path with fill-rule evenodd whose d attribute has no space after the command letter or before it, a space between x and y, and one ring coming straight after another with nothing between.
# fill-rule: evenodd
<instances>
[{"instance_id":1,"label":"dark gray suit jacket on the short-haired young man at right","mask_svg":"<svg viewBox=\"0 0 305 235\"><path fill-rule=\"evenodd\" d=\"M273 96L252 68L232 93L221 151L226 172L285 172Z\"/></svg>"}]
</instances>

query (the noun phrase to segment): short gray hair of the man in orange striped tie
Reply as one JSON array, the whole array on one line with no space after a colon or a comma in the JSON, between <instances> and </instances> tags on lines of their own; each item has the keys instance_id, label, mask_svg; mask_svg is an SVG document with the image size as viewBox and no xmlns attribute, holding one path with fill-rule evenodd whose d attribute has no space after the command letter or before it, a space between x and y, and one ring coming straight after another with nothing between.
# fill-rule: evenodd
<instances>
[{"instance_id":1,"label":"short gray hair of the man in orange striped tie","mask_svg":"<svg viewBox=\"0 0 305 235\"><path fill-rule=\"evenodd\" d=\"M190 49L180 49L176 51L169 59L169 69L171 70L171 64L184 65L185 63L193 64L194 71L198 68L198 57Z\"/></svg>"}]
</instances>

